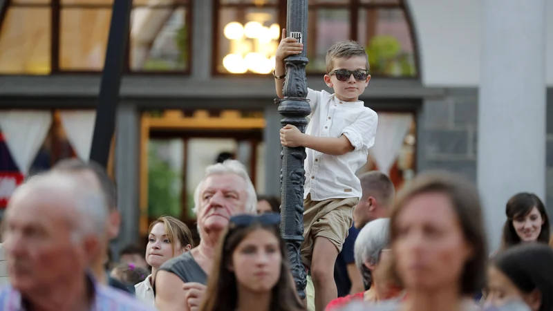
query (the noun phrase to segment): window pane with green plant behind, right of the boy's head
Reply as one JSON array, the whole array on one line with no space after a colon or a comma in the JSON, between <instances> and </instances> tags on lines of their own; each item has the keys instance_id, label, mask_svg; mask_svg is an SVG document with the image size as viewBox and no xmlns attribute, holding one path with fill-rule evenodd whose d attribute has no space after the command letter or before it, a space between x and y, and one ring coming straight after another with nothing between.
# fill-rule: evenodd
<instances>
[{"instance_id":1,"label":"window pane with green plant behind, right of the boy's head","mask_svg":"<svg viewBox=\"0 0 553 311\"><path fill-rule=\"evenodd\" d=\"M359 44L366 47L371 72L413 77L415 50L402 9L359 10Z\"/></svg>"}]
</instances>

